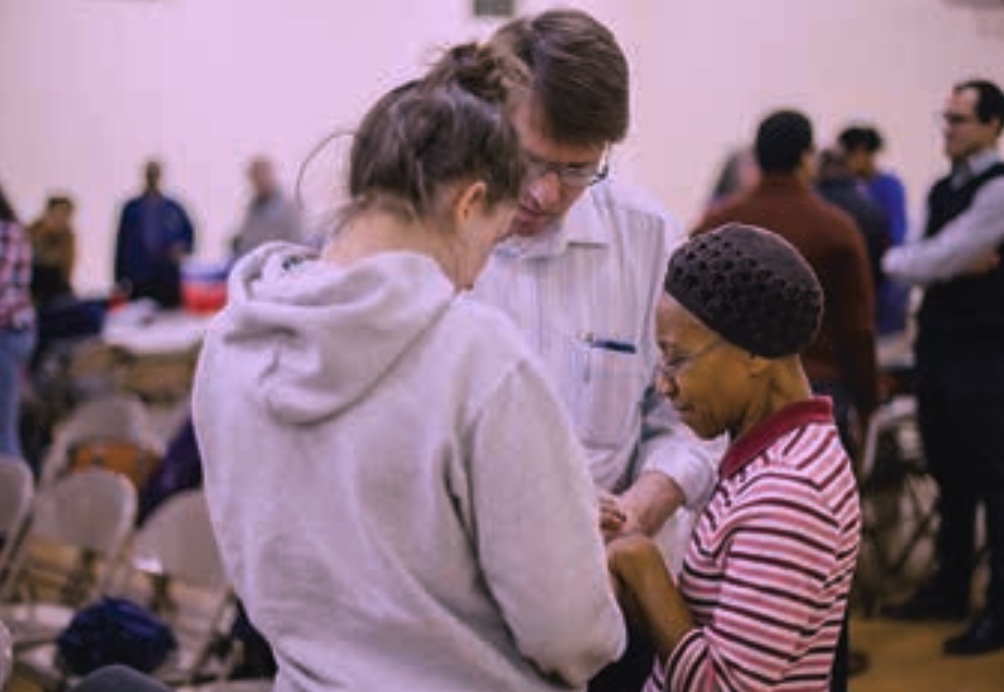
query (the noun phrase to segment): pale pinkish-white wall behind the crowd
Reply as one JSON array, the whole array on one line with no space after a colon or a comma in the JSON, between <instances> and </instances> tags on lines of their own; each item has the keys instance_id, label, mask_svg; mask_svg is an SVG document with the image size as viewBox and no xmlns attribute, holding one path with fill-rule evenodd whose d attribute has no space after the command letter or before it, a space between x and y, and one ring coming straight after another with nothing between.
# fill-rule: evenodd
<instances>
[{"instance_id":1,"label":"pale pinkish-white wall behind the crowd","mask_svg":"<svg viewBox=\"0 0 1004 692\"><path fill-rule=\"evenodd\" d=\"M972 1L972 0L970 0ZM635 121L617 157L685 221L729 146L795 105L821 140L881 124L915 203L944 167L934 113L971 74L1004 82L1004 12L962 0L593 0L633 62ZM545 0L524 0L524 11ZM117 207L157 155L219 256L265 152L291 183L311 146L351 125L436 46L485 35L469 0L0 0L0 182L31 218L78 201L77 282L109 275Z\"/></svg>"}]
</instances>

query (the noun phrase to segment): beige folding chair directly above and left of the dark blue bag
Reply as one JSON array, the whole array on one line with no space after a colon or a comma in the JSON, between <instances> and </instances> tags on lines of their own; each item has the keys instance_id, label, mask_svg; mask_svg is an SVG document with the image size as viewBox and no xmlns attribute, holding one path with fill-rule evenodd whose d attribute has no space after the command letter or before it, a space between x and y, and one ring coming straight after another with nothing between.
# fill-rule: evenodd
<instances>
[{"instance_id":1,"label":"beige folding chair directly above and left of the dark blue bag","mask_svg":"<svg viewBox=\"0 0 1004 692\"><path fill-rule=\"evenodd\" d=\"M136 510L135 488L110 471L82 471L38 490L0 585L0 619L15 654L50 641L77 607L104 590Z\"/></svg>"}]
</instances>

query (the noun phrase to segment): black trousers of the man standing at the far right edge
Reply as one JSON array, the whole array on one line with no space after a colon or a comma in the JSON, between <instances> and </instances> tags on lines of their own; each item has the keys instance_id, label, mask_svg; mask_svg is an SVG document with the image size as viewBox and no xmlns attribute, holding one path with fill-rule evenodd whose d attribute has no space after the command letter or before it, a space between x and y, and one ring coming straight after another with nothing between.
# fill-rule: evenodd
<instances>
[{"instance_id":1,"label":"black trousers of the man standing at the far right edge","mask_svg":"<svg viewBox=\"0 0 1004 692\"><path fill-rule=\"evenodd\" d=\"M934 586L947 601L969 604L982 502L986 604L1004 617L1004 358L932 361L920 359L917 387L925 457L939 489Z\"/></svg>"}]
</instances>

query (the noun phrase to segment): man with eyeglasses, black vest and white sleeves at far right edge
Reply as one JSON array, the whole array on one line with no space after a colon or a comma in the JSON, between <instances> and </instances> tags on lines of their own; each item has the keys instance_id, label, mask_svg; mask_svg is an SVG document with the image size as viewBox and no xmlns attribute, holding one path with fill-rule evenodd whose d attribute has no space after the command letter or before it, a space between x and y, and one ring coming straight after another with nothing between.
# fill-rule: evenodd
<instances>
[{"instance_id":1,"label":"man with eyeglasses, black vest and white sleeves at far right edge","mask_svg":"<svg viewBox=\"0 0 1004 692\"><path fill-rule=\"evenodd\" d=\"M938 565L913 598L884 613L968 615L983 503L986 602L944 645L964 656L1004 648L1004 93L981 79L960 83L942 119L952 172L928 194L923 237L883 260L888 274L925 289L914 352L924 450L940 490Z\"/></svg>"}]
</instances>

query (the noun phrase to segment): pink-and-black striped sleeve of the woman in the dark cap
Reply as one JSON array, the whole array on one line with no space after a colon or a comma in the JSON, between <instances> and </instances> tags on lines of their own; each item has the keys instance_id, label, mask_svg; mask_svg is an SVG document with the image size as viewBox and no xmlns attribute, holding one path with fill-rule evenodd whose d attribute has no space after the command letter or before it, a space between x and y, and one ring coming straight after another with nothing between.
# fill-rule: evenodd
<instances>
[{"instance_id":1,"label":"pink-and-black striped sleeve of the woman in the dark cap","mask_svg":"<svg viewBox=\"0 0 1004 692\"><path fill-rule=\"evenodd\" d=\"M840 585L834 546L841 527L811 480L784 469L749 481L722 517L722 539L698 550L724 550L721 575L688 574L691 597L716 602L711 621L689 633L674 650L665 671L667 690L762 690L799 685L792 679L795 658L817 660L803 666L802 687L824 683L832 647L813 633L839 628L832 605ZM688 564L690 569L694 566ZM704 584L703 584L704 583ZM707 587L708 593L702 594ZM818 655L810 650L818 647ZM807 663L809 661L806 661Z\"/></svg>"}]
</instances>

